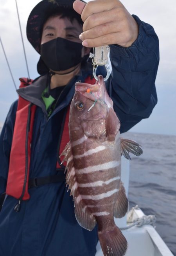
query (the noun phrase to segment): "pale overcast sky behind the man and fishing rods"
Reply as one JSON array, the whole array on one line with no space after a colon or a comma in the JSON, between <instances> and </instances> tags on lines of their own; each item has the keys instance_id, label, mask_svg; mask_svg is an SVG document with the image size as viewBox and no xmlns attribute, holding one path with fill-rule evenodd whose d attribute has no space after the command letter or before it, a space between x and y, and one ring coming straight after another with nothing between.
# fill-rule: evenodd
<instances>
[{"instance_id":1,"label":"pale overcast sky behind the man and fishing rods","mask_svg":"<svg viewBox=\"0 0 176 256\"><path fill-rule=\"evenodd\" d=\"M38 76L38 53L26 38L26 22L32 8L40 1L17 0L29 63L30 77ZM156 79L158 104L151 116L131 129L140 133L176 135L176 0L122 0L129 13L151 24L160 40L160 65ZM11 65L17 87L19 77L27 77L15 0L0 0L0 37ZM17 94L0 46L0 122L4 122Z\"/></svg>"}]
</instances>

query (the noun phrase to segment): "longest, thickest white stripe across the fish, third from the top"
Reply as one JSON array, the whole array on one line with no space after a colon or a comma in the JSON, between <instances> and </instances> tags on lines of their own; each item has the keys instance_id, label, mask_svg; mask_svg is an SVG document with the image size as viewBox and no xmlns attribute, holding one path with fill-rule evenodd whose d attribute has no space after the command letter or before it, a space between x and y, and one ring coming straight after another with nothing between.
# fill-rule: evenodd
<instances>
[{"instance_id":1,"label":"longest, thickest white stripe across the fish, third from the top","mask_svg":"<svg viewBox=\"0 0 176 256\"><path fill-rule=\"evenodd\" d=\"M79 174L92 173L94 171L108 170L120 166L120 161L111 161L104 164L98 164L95 166L88 166L83 169L76 169L75 172Z\"/></svg>"}]
</instances>

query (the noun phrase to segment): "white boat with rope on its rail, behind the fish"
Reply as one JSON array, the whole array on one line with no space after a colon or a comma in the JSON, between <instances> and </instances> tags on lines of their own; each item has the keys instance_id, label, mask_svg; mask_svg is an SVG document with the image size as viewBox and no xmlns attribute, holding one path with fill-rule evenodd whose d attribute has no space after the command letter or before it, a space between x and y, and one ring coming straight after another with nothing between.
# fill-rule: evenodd
<instances>
[{"instance_id":1,"label":"white boat with rope on its rail, behind the fish","mask_svg":"<svg viewBox=\"0 0 176 256\"><path fill-rule=\"evenodd\" d=\"M121 180L124 183L128 195L129 187L129 161L122 157ZM154 215L146 216L144 212L135 206L121 219L115 219L116 225L122 230L128 241L128 249L125 256L174 256L163 239L156 232ZM104 256L100 243L97 244L95 256Z\"/></svg>"}]
</instances>

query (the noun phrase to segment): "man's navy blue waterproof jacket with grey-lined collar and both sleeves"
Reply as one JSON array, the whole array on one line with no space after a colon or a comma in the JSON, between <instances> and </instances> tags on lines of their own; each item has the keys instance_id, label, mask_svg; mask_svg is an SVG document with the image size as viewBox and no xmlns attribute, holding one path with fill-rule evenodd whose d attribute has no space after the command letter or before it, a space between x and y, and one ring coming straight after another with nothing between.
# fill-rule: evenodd
<instances>
[{"instance_id":1,"label":"man's navy blue waterproof jacket with grey-lined collar and both sleeves","mask_svg":"<svg viewBox=\"0 0 176 256\"><path fill-rule=\"evenodd\" d=\"M154 29L134 16L139 25L138 39L129 48L111 45L112 74L108 93L121 122L121 133L142 118L148 118L157 102L155 78L159 63L158 37ZM41 76L18 93L38 105L32 137L30 177L59 175L56 170L58 138L66 107L74 94L74 83L89 72L74 77L66 86L56 108L48 118L41 92L46 77ZM0 194L5 192L13 128L17 109L15 101L0 134ZM7 196L0 212L0 256L94 256L97 229L81 228L74 215L74 203L65 182L29 189L31 198L22 201Z\"/></svg>"}]
</instances>

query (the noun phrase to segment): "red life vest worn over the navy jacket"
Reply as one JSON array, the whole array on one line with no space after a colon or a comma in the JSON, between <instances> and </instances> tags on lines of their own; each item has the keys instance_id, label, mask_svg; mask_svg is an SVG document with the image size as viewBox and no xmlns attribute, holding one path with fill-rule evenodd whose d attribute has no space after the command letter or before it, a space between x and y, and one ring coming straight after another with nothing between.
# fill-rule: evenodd
<instances>
[{"instance_id":1,"label":"red life vest worn over the navy jacket","mask_svg":"<svg viewBox=\"0 0 176 256\"><path fill-rule=\"evenodd\" d=\"M32 83L32 80L27 78L20 78L20 81L20 88L26 87ZM94 84L95 79L91 79L91 77L88 76L85 79L85 83ZM58 149L59 155L69 142L69 110L70 108L68 108L66 113L61 143ZM19 202L30 198L28 182L35 111L36 105L33 105L31 102L19 96L9 160L7 187L5 192L7 195L11 195L18 199ZM58 160L60 160L59 156ZM57 162L56 168L61 168L59 162Z\"/></svg>"}]
</instances>

